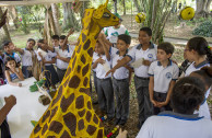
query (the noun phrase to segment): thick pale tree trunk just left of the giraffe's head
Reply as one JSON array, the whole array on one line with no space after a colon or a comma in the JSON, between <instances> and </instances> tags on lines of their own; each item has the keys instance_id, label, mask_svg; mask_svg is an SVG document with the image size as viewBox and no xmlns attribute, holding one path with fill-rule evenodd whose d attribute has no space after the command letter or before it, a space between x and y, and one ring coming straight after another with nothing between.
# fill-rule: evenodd
<instances>
[{"instance_id":1,"label":"thick pale tree trunk just left of the giraffe's head","mask_svg":"<svg viewBox=\"0 0 212 138\"><path fill-rule=\"evenodd\" d=\"M70 28L73 27L74 30L79 31L79 23L76 21L75 14L72 10L72 3L62 3L63 7L63 23L62 28Z\"/></svg>"}]
</instances>

